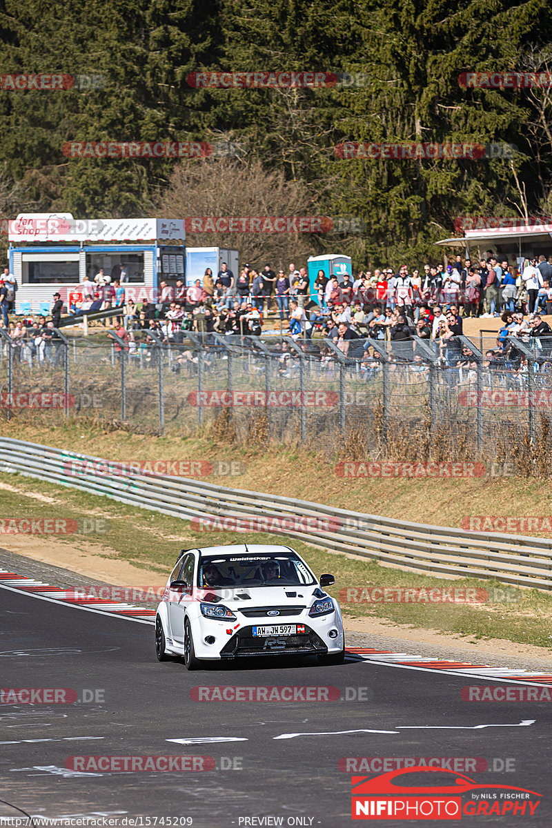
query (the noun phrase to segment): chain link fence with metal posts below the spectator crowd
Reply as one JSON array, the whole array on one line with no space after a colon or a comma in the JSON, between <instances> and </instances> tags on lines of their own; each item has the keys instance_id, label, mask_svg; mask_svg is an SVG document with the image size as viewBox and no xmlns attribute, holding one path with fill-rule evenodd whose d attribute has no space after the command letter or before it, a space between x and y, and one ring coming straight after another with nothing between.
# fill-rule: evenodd
<instances>
[{"instance_id":1,"label":"chain link fence with metal posts below the spectator crowd","mask_svg":"<svg viewBox=\"0 0 552 828\"><path fill-rule=\"evenodd\" d=\"M59 333L46 348L0 330L0 416L94 417L133 431L217 423L240 440L301 441L396 459L494 454L535 441L552 399L552 339L389 342L186 334L131 345ZM492 353L491 353L492 352ZM407 456L409 455L410 456Z\"/></svg>"}]
</instances>

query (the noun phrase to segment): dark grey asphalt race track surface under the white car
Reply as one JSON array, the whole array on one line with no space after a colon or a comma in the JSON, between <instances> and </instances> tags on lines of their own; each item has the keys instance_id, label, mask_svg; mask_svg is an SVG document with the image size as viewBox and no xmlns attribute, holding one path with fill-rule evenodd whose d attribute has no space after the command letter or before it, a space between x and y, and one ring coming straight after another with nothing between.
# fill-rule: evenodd
<instances>
[{"instance_id":1,"label":"dark grey asphalt race track surface under the white car","mask_svg":"<svg viewBox=\"0 0 552 828\"><path fill-rule=\"evenodd\" d=\"M463 816L463 825L552 826L551 703L461 699L463 686L498 683L354 660L338 667L252 660L188 672L178 661L156 662L149 624L0 588L0 686L92 694L71 704L0 705L0 799L9 803L0 803L0 816L17 816L14 806L36 816L138 816L142 826L148 817L151 826L161 817L189 817L199 828L353 826L352 772L340 759L343 766L353 757L456 757L480 758L478 768L486 760L477 773L468 764L477 782L542 795L533 816ZM338 687L342 698L193 700L199 686ZM96 774L66 767L70 757L89 755L200 755L216 767Z\"/></svg>"}]
</instances>

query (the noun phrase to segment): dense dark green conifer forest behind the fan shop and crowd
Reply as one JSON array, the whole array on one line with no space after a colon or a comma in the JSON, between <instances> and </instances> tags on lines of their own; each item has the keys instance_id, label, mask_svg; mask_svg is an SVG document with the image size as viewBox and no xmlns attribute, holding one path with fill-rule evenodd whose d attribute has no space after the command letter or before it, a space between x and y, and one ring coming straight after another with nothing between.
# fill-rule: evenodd
<instances>
[{"instance_id":1,"label":"dense dark green conifer forest behind the fan shop and crowd","mask_svg":"<svg viewBox=\"0 0 552 828\"><path fill-rule=\"evenodd\" d=\"M454 234L457 216L550 215L552 89L466 89L459 76L548 72L551 30L546 0L0 0L0 217L325 215L347 220L279 243L372 267L437 258L434 240ZM337 81L218 88L210 75L263 71ZM12 75L41 73L72 80L10 87ZM214 150L71 157L70 142ZM342 157L344 142L515 153ZM236 235L188 243L247 255Z\"/></svg>"}]
</instances>

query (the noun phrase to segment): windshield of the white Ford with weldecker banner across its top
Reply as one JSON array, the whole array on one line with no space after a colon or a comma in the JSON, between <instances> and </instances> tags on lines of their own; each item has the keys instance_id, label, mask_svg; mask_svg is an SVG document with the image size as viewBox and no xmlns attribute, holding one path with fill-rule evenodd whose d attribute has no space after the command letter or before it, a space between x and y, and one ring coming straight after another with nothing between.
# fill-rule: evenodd
<instances>
[{"instance_id":1,"label":"windshield of the white Ford with weldecker banner across its top","mask_svg":"<svg viewBox=\"0 0 552 828\"><path fill-rule=\"evenodd\" d=\"M212 556L199 561L199 586L307 586L316 580L296 555Z\"/></svg>"}]
</instances>

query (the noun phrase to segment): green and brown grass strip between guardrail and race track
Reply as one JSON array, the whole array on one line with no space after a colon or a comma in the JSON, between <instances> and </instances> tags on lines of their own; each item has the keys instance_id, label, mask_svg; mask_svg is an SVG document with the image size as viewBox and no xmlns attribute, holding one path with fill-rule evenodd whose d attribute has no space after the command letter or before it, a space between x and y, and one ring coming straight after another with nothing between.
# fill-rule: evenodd
<instances>
[{"instance_id":1,"label":"green and brown grass strip between guardrail and race track","mask_svg":"<svg viewBox=\"0 0 552 828\"><path fill-rule=\"evenodd\" d=\"M245 536L233 532L194 532L189 521L168 517L147 509L127 506L107 497L80 492L20 474L0 474L0 483L17 491L2 490L0 517L83 519L101 517L109 522L106 534L56 536L55 542L79 547L85 537L97 547L97 555L127 561L133 566L159 573L158 584L165 582L170 568L183 547L210 546L242 542ZM9 534L0 543L9 548ZM511 642L552 648L552 595L537 590L506 589L497 581L460 578L443 580L380 566L376 561L320 550L295 538L268 534L247 535L250 543L282 543L293 546L317 575L331 572L336 584L329 592L370 587L405 587L424 590L444 588L493 588L506 592L505 600L485 604L433 603L352 603L342 602L350 619L375 617L440 633L456 633L471 638L505 638Z\"/></svg>"}]
</instances>

